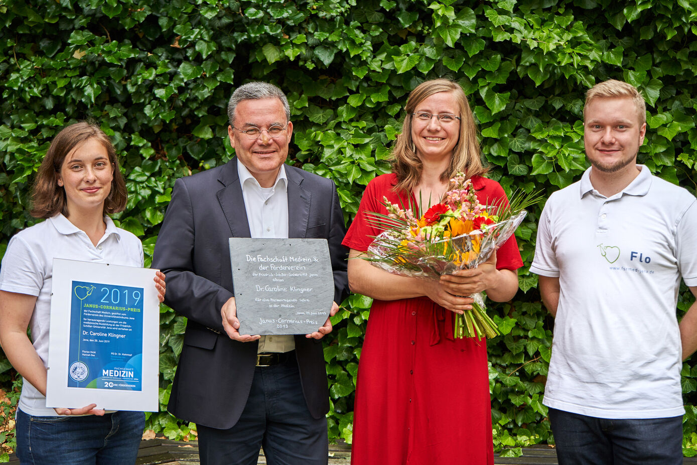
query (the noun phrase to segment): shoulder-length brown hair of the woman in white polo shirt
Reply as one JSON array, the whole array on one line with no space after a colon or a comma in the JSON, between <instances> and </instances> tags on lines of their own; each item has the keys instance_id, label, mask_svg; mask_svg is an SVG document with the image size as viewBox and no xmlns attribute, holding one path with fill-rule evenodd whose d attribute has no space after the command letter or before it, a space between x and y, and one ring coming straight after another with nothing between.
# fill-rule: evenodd
<instances>
[{"instance_id":1,"label":"shoulder-length brown hair of the woman in white polo shirt","mask_svg":"<svg viewBox=\"0 0 697 465\"><path fill-rule=\"evenodd\" d=\"M107 149L109 162L114 168L112 189L104 202L104 214L118 213L126 206L126 184L123 181L121 171L118 169L116 150L112 141L98 125L86 123L71 124L63 128L53 138L41 166L34 178L32 186L31 215L36 218L51 218L59 213L68 215L66 204L66 190L58 185L58 175L61 171L66 156L79 144L87 139L97 139Z\"/></svg>"}]
</instances>

